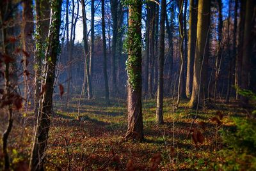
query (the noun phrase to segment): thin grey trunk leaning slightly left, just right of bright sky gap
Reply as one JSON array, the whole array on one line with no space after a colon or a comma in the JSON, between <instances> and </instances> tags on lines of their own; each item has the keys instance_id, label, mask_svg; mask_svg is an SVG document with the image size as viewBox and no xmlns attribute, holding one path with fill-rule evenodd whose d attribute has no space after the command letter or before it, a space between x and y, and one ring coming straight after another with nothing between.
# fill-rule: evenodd
<instances>
[{"instance_id":1,"label":"thin grey trunk leaning slightly left, just right of bright sky gap","mask_svg":"<svg viewBox=\"0 0 256 171\"><path fill-rule=\"evenodd\" d=\"M82 12L83 12L83 40L84 40L84 57L85 57L85 66L86 66L86 75L87 78L87 93L88 93L88 99L90 100L92 98L92 82L90 77L90 66L89 66L89 45L88 45L88 38L87 38L87 24L86 24L86 9L85 9L85 3L84 0L81 1L82 4Z\"/></svg>"}]
</instances>

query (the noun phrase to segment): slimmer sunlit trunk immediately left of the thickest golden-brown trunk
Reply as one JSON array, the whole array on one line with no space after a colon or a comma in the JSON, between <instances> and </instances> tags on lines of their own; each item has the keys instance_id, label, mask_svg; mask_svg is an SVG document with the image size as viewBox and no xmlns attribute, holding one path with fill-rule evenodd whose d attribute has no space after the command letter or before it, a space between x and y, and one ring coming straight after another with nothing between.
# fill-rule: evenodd
<instances>
[{"instance_id":1,"label":"slimmer sunlit trunk immediately left of the thickest golden-brown trunk","mask_svg":"<svg viewBox=\"0 0 256 171\"><path fill-rule=\"evenodd\" d=\"M186 96L191 97L193 84L193 66L196 50L196 23L197 23L197 0L189 2L189 31L188 31L188 61L187 61L187 78L186 78Z\"/></svg>"}]
</instances>

